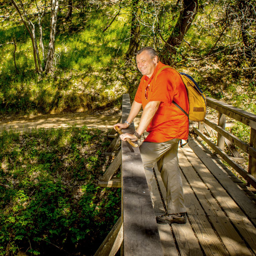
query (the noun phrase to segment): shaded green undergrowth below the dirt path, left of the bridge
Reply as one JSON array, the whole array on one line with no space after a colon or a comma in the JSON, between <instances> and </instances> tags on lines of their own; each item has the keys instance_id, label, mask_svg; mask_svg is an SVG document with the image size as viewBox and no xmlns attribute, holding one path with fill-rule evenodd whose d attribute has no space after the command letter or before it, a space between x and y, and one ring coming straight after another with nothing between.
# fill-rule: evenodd
<instances>
[{"instance_id":1,"label":"shaded green undergrowth below the dirt path, left of the bridge","mask_svg":"<svg viewBox=\"0 0 256 256\"><path fill-rule=\"evenodd\" d=\"M70 126L0 136L0 255L92 255L120 215L120 189L96 185L109 144Z\"/></svg>"}]
</instances>

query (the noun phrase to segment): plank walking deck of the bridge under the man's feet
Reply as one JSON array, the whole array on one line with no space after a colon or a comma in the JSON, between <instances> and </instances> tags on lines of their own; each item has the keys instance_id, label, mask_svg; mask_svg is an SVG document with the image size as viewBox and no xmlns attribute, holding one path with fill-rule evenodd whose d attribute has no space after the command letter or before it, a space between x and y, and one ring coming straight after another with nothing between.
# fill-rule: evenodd
<instances>
[{"instance_id":1,"label":"plank walking deck of the bridge under the man's feet","mask_svg":"<svg viewBox=\"0 0 256 256\"><path fill-rule=\"evenodd\" d=\"M157 224L164 255L256 255L255 195L191 138L178 157L188 221ZM157 168L155 174L154 211L160 215L166 192Z\"/></svg>"}]
</instances>

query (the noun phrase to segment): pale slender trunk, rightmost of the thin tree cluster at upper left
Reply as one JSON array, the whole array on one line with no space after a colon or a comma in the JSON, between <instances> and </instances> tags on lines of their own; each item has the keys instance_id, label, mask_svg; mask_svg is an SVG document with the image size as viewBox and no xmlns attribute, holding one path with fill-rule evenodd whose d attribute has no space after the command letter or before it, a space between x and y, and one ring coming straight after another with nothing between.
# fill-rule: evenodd
<instances>
[{"instance_id":1,"label":"pale slender trunk, rightmost of the thin tree cluster at upper left","mask_svg":"<svg viewBox=\"0 0 256 256\"><path fill-rule=\"evenodd\" d=\"M57 22L58 9L59 9L59 0L52 0L50 40L49 40L47 60L46 60L46 65L45 65L45 73L46 74L53 73L53 62L54 62L54 52L55 52L55 34L56 34L56 22Z\"/></svg>"}]
</instances>

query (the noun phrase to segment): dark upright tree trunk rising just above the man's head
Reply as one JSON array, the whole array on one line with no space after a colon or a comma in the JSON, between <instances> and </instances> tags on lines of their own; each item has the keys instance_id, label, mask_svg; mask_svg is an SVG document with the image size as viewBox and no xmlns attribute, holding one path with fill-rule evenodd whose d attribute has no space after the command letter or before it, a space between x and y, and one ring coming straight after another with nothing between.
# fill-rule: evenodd
<instances>
[{"instance_id":1,"label":"dark upright tree trunk rising just above the man's head","mask_svg":"<svg viewBox=\"0 0 256 256\"><path fill-rule=\"evenodd\" d=\"M139 37L140 37L140 23L139 18L141 15L141 9L138 8L140 0L132 1L132 18L131 18L131 30L130 30L130 44L128 51L126 52L126 58L131 59L134 56L134 53L137 52L139 46Z\"/></svg>"}]
</instances>

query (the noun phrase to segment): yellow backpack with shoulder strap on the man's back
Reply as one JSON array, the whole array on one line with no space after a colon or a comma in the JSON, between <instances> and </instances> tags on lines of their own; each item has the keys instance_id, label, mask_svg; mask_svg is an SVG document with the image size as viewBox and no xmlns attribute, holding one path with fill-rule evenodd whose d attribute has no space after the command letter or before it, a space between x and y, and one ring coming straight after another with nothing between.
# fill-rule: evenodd
<instances>
[{"instance_id":1,"label":"yellow backpack with shoulder strap on the man's back","mask_svg":"<svg viewBox=\"0 0 256 256\"><path fill-rule=\"evenodd\" d=\"M160 72L165 68L171 68L175 70L170 66L164 66L160 68L160 70L157 72L155 79L160 74ZM175 71L178 72L177 70ZM181 108L174 100L172 101L173 104L177 106L185 115L187 115L190 121L204 121L206 115L205 94L197 85L197 82L195 82L190 75L183 72L178 72L178 74L181 76L182 81L187 89L189 98L189 113L187 113L183 108Z\"/></svg>"}]
</instances>

